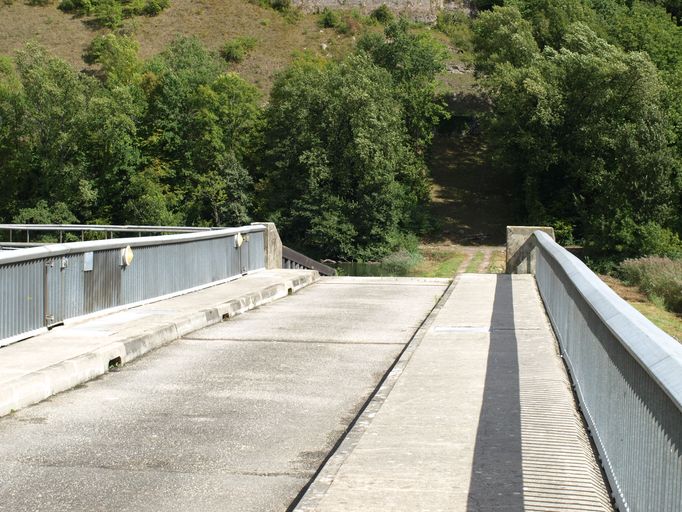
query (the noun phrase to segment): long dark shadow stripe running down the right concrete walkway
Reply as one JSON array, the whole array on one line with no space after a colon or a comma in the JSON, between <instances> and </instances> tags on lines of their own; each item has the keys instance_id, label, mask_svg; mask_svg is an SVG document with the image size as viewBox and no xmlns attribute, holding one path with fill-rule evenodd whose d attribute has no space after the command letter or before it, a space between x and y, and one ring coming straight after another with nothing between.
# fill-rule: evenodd
<instances>
[{"instance_id":1,"label":"long dark shadow stripe running down the right concrete walkway","mask_svg":"<svg viewBox=\"0 0 682 512\"><path fill-rule=\"evenodd\" d=\"M519 359L512 279L497 276L467 512L523 510Z\"/></svg>"}]
</instances>

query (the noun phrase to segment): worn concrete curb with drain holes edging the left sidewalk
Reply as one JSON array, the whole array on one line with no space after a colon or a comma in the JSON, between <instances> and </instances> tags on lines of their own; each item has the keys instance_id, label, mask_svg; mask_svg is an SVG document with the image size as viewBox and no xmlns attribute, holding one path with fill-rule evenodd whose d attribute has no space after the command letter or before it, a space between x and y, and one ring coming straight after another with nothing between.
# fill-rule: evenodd
<instances>
[{"instance_id":1,"label":"worn concrete curb with drain holes edging the left sidewalk","mask_svg":"<svg viewBox=\"0 0 682 512\"><path fill-rule=\"evenodd\" d=\"M319 274L311 272L294 279L283 280L239 298L180 316L139 335L123 338L23 375L0 389L0 417L99 377L109 371L112 362L118 365L133 361L150 350L175 341L190 332L286 297L318 279Z\"/></svg>"}]
</instances>

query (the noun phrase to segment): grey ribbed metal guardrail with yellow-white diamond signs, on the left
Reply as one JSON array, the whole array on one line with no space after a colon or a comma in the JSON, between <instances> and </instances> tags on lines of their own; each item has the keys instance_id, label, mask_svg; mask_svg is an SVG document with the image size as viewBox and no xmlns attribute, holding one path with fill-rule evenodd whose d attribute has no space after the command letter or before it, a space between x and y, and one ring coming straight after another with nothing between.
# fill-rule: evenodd
<instances>
[{"instance_id":1,"label":"grey ribbed metal guardrail with yellow-white diamond signs, on the left","mask_svg":"<svg viewBox=\"0 0 682 512\"><path fill-rule=\"evenodd\" d=\"M133 231L139 228L134 226ZM166 230L146 228L147 232ZM184 228L168 230L178 229ZM199 232L0 253L0 346L65 319L171 295L265 266L263 225L188 230ZM129 265L124 261L127 247L133 256Z\"/></svg>"}]
</instances>

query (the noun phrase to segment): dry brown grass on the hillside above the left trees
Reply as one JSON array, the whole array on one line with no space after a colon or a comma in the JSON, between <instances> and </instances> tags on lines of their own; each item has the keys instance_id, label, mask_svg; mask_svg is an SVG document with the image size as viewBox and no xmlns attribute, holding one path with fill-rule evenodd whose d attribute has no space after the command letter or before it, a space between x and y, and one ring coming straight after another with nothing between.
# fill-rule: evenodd
<instances>
[{"instance_id":1,"label":"dry brown grass on the hillside above the left trees","mask_svg":"<svg viewBox=\"0 0 682 512\"><path fill-rule=\"evenodd\" d=\"M140 42L143 58L158 53L179 35L197 36L216 50L235 37L253 37L253 51L231 68L267 93L274 74L292 60L295 52L333 57L352 47L352 35L321 29L317 20L316 15L302 14L292 21L247 0L172 0L170 8L158 16L126 20L124 30ZM86 48L104 32L87 18L60 11L57 2L45 6L29 6L20 0L10 5L0 3L0 54L10 54L34 39L83 69L88 67L83 60Z\"/></svg>"}]
</instances>

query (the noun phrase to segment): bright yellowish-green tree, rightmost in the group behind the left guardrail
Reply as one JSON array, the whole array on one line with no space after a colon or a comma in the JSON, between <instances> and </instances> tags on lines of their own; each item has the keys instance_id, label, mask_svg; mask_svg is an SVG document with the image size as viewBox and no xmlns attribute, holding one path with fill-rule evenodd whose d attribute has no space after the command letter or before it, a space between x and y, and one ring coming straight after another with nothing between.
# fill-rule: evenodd
<instances>
[{"instance_id":1,"label":"bright yellowish-green tree, rightmost in the group behind the left guardrail","mask_svg":"<svg viewBox=\"0 0 682 512\"><path fill-rule=\"evenodd\" d=\"M147 154L188 223L249 219L251 178L243 161L260 126L259 94L192 38L178 39L147 64Z\"/></svg>"}]
</instances>

